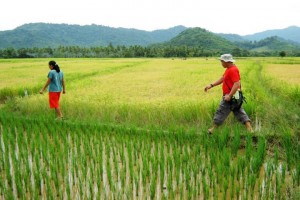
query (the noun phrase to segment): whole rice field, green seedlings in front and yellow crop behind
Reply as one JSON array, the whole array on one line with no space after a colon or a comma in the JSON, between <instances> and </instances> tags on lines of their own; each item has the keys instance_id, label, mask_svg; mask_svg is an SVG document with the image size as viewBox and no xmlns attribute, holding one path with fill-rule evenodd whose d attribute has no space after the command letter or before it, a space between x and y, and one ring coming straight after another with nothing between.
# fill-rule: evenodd
<instances>
[{"instance_id":1,"label":"whole rice field, green seedlings in front and yellow crop behind","mask_svg":"<svg viewBox=\"0 0 300 200\"><path fill-rule=\"evenodd\" d=\"M63 121L48 61L0 60L0 199L299 198L299 58L238 58L255 132L212 136L217 59L58 59Z\"/></svg>"}]
</instances>

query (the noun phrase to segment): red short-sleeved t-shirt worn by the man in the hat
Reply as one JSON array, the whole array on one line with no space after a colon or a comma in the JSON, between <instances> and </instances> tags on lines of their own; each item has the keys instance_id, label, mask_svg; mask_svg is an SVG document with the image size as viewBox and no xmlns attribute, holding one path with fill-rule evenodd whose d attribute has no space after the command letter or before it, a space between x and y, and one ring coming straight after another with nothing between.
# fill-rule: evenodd
<instances>
[{"instance_id":1,"label":"red short-sleeved t-shirt worn by the man in the hat","mask_svg":"<svg viewBox=\"0 0 300 200\"><path fill-rule=\"evenodd\" d=\"M233 84L240 80L239 69L235 65L228 67L223 74L223 78L224 79L223 79L222 89L223 89L223 95L225 95L225 94L229 94L230 90L233 87Z\"/></svg>"}]
</instances>

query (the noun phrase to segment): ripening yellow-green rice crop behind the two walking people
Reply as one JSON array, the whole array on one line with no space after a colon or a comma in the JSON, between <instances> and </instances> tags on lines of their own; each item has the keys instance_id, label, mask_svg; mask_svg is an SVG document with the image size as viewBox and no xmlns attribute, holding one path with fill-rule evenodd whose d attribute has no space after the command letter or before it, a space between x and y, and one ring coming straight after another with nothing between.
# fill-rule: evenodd
<instances>
[{"instance_id":1,"label":"ripening yellow-green rice crop behind the two walking people","mask_svg":"<svg viewBox=\"0 0 300 200\"><path fill-rule=\"evenodd\" d=\"M265 94L264 86L273 83L276 85L276 81L265 80L265 77L273 75L270 71L278 71L278 67L270 70L275 65L272 63L279 62L278 59L238 59L242 89L249 102L244 107L253 120L256 117L266 120L262 119L265 115L263 109L259 109L268 104L266 98L272 93ZM28 98L17 98L10 102L10 110L26 116L53 118L52 114L49 115L48 96L38 94L46 81L48 61L49 59L1 60L2 101L6 94L20 96L25 90L29 93ZM65 73L67 85L67 94L61 97L61 108L65 117L73 121L165 129L174 126L199 128L211 123L222 95L221 87L208 93L203 91L207 84L218 79L224 72L217 59L56 61ZM292 79L292 84L299 88L299 64L294 64L299 60L294 58L289 62L293 64L289 65L285 61L282 70L293 72L289 75L284 73L285 77ZM229 122L231 123L230 119Z\"/></svg>"}]
</instances>

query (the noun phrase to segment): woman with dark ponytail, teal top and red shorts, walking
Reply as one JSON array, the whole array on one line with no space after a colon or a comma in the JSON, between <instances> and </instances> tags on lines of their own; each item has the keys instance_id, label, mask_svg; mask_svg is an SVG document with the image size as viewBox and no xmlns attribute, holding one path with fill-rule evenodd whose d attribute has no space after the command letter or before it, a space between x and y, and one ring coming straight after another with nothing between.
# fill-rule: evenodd
<instances>
[{"instance_id":1,"label":"woman with dark ponytail, teal top and red shorts, walking","mask_svg":"<svg viewBox=\"0 0 300 200\"><path fill-rule=\"evenodd\" d=\"M54 108L57 114L57 119L61 120L63 115L59 106L60 94L63 92L66 93L64 74L60 70L59 66L55 61L49 62L50 72L48 73L48 80L45 86L40 90L40 94L46 90L49 86L49 105L50 108Z\"/></svg>"}]
</instances>

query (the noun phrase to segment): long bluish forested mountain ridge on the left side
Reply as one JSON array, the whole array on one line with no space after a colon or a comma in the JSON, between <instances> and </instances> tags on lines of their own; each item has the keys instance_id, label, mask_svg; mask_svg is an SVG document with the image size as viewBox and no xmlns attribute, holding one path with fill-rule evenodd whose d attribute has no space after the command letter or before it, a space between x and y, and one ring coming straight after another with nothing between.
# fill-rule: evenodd
<instances>
[{"instance_id":1,"label":"long bluish forested mountain ridge on the left side","mask_svg":"<svg viewBox=\"0 0 300 200\"><path fill-rule=\"evenodd\" d=\"M31 23L14 30L0 31L0 49L7 47L90 47L109 44L147 46L168 41L185 29L184 26L176 26L166 30L142 31L100 25Z\"/></svg>"}]
</instances>

